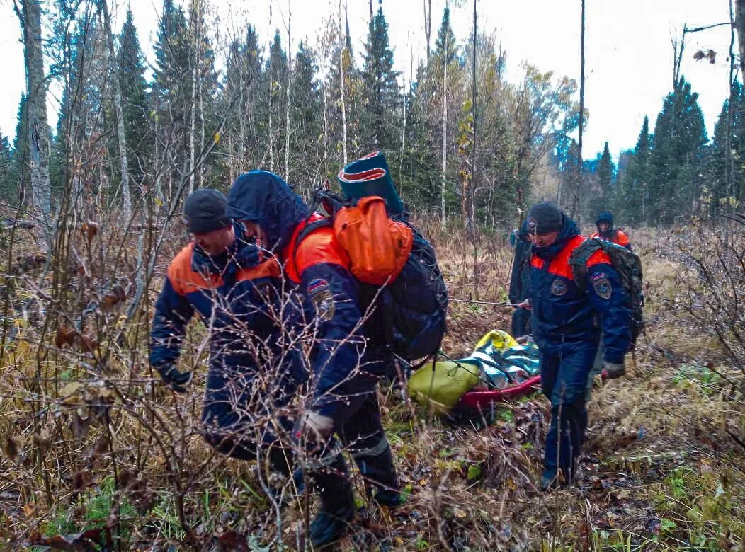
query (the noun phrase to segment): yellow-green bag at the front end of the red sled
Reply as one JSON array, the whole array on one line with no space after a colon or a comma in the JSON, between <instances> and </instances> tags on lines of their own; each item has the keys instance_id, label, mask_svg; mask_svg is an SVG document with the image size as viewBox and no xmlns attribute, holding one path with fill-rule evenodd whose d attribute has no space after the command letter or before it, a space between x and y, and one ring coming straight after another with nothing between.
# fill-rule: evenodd
<instances>
[{"instance_id":1,"label":"yellow-green bag at the front end of the red sled","mask_svg":"<svg viewBox=\"0 0 745 552\"><path fill-rule=\"evenodd\" d=\"M479 382L478 361L439 361L425 364L409 378L409 396L436 413L448 413Z\"/></svg>"}]
</instances>

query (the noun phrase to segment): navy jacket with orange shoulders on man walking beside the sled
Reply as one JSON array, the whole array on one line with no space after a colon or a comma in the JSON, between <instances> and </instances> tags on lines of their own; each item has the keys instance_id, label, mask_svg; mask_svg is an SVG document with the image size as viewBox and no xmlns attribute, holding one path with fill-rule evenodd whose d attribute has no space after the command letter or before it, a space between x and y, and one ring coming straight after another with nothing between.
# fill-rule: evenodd
<instances>
[{"instance_id":1,"label":"navy jacket with orange shoulders on man walking beside the sled","mask_svg":"<svg viewBox=\"0 0 745 552\"><path fill-rule=\"evenodd\" d=\"M584 240L574 221L565 218L554 245L533 248L529 293L533 337L541 348L567 341L592 342L602 327L605 360L620 364L630 346L627 292L602 250L589 258L585 290L580 290L569 258Z\"/></svg>"}]
</instances>

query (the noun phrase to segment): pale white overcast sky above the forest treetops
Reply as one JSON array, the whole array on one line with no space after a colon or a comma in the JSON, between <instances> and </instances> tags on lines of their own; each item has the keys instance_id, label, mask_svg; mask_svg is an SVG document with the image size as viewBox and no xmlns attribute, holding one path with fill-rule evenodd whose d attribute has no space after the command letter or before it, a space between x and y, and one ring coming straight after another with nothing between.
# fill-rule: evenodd
<instances>
[{"instance_id":1,"label":"pale white overcast sky above the forest treetops","mask_svg":"<svg viewBox=\"0 0 745 552\"><path fill-rule=\"evenodd\" d=\"M115 25L121 26L127 1L113 0ZM178 1L178 0L177 0ZM359 55L370 19L368 0L347 0L349 25L355 52ZM378 1L375 1L377 9ZM542 71L554 71L579 80L580 76L580 0L477 0L479 27L501 36L507 51L508 77L516 80L523 60ZM291 9L293 42L307 38L315 42L323 28L323 19L338 11L338 0L273 0L272 28L285 33L282 17ZM48 0L42 0L48 4ZM140 42L152 61L151 43L162 0L130 0ZM586 157L592 157L609 142L618 156L633 147L644 115L653 126L662 100L672 87L672 48L670 30L689 28L729 19L729 0L586 0ZM228 28L228 14L238 12L244 21L256 25L264 44L270 39L270 0L211 0L221 18L221 33ZM472 26L472 0L451 0L452 25L460 43L468 39ZM433 0L432 38L442 19L445 0ZM424 55L424 16L421 0L384 0L383 10L389 25L390 42L398 69L409 73L410 60L416 65ZM213 16L214 17L214 16ZM285 35L286 36L286 35ZM18 19L10 0L0 0L0 132L13 136L18 101L25 89L23 49ZM283 37L284 38L284 37ZM722 102L728 95L729 28L714 28L686 39L683 74L700 95L708 133L714 129ZM717 52L716 63L696 62L693 54L700 48ZM293 48L295 49L295 48ZM54 99L51 110L56 111ZM56 113L52 113L51 117ZM51 121L54 126L54 121Z\"/></svg>"}]
</instances>

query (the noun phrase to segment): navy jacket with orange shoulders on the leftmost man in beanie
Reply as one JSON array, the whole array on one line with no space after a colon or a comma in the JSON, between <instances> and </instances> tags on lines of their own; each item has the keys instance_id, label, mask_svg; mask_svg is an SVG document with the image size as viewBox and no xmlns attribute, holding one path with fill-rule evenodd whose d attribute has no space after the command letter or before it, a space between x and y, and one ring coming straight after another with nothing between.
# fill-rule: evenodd
<instances>
[{"instance_id":1,"label":"navy jacket with orange shoulders on the leftmost man in beanie","mask_svg":"<svg viewBox=\"0 0 745 552\"><path fill-rule=\"evenodd\" d=\"M155 304L150 334L150 364L173 364L180 355L186 326L197 314L211 328L210 365L241 372L262 365L269 355L291 358L288 367L302 378L299 355L280 339L282 316L290 323L291 309L282 309L282 277L277 261L261 261L259 247L244 241L240 226L229 251L212 258L194 243L171 261ZM278 314L277 313L282 313ZM264 346L250 347L250 341ZM259 351L259 353L257 353Z\"/></svg>"}]
</instances>

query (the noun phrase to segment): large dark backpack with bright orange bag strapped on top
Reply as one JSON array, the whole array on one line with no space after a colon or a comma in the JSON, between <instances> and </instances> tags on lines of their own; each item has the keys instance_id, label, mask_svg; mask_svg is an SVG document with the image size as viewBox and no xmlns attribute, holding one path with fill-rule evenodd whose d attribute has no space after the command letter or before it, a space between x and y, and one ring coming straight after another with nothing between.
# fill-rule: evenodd
<instances>
[{"instance_id":1,"label":"large dark backpack with bright orange bag strapped on top","mask_svg":"<svg viewBox=\"0 0 745 552\"><path fill-rule=\"evenodd\" d=\"M315 229L332 226L352 275L374 291L364 295L375 303L390 350L407 361L437 354L448 291L434 249L408 215L389 215L382 197L345 201L326 190L315 192L311 212L318 206L328 216L309 222L294 250Z\"/></svg>"}]
</instances>

